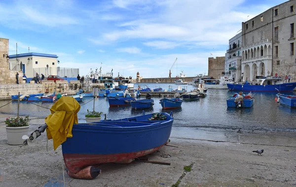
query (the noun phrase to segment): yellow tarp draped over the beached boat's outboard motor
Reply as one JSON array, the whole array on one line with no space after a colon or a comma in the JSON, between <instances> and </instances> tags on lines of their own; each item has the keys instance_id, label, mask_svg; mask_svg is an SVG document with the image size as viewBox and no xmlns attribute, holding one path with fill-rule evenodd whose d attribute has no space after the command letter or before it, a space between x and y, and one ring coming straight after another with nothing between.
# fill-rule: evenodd
<instances>
[{"instance_id":1,"label":"yellow tarp draped over the beached boat's outboard motor","mask_svg":"<svg viewBox=\"0 0 296 187\"><path fill-rule=\"evenodd\" d=\"M47 139L53 139L53 148L72 138L73 124L78 124L77 113L80 105L73 97L63 96L50 108L51 114L45 118Z\"/></svg>"}]
</instances>

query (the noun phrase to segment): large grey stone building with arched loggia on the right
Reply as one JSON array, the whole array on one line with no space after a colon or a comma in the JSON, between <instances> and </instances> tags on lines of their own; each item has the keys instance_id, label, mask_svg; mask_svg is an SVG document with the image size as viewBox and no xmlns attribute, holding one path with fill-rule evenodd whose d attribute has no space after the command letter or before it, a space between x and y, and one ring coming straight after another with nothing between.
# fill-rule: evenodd
<instances>
[{"instance_id":1,"label":"large grey stone building with arched loggia on the right","mask_svg":"<svg viewBox=\"0 0 296 187\"><path fill-rule=\"evenodd\" d=\"M242 23L243 80L291 75L295 81L296 0L274 6Z\"/></svg>"}]
</instances>

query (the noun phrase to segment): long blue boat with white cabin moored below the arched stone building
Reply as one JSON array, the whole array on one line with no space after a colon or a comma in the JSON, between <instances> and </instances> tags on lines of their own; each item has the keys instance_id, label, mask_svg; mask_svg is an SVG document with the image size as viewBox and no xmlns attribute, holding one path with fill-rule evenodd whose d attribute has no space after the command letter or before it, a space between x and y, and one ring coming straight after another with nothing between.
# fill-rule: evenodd
<instances>
[{"instance_id":1,"label":"long blue boat with white cabin moored below the arched stone building","mask_svg":"<svg viewBox=\"0 0 296 187\"><path fill-rule=\"evenodd\" d=\"M246 81L245 84L227 84L231 91L239 92L292 92L296 88L296 82L284 83L281 77L259 77L258 83L250 84Z\"/></svg>"}]
</instances>

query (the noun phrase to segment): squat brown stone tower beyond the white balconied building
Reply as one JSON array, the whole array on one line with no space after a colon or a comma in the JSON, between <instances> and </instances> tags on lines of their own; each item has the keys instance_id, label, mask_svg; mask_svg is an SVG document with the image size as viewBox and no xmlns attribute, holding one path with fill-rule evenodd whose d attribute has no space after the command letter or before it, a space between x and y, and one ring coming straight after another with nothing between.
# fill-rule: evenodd
<instances>
[{"instance_id":1,"label":"squat brown stone tower beyond the white balconied building","mask_svg":"<svg viewBox=\"0 0 296 187\"><path fill-rule=\"evenodd\" d=\"M210 57L208 66L209 66L208 76L219 79L221 76L225 74L224 72L225 57L216 57L216 59L213 57Z\"/></svg>"}]
</instances>

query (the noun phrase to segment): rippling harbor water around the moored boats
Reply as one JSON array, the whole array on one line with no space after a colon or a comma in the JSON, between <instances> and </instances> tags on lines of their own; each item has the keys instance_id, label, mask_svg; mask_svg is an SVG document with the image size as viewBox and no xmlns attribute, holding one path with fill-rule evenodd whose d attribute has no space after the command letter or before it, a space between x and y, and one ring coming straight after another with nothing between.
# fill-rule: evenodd
<instances>
[{"instance_id":1,"label":"rippling harbor water around the moored boats","mask_svg":"<svg viewBox=\"0 0 296 187\"><path fill-rule=\"evenodd\" d=\"M177 89L178 86L194 90L191 85L175 85L167 83L140 84L147 85L150 89L169 88ZM135 84L135 88L138 85ZM167 112L174 113L174 126L190 128L214 128L214 129L249 129L264 131L295 131L296 109L283 106L275 101L276 93L256 93L255 102L252 108L227 108L226 99L235 92L228 90L208 90L205 98L196 101L184 101L179 109L163 110L159 103L160 97L152 97L154 105L150 109L145 109L145 113ZM290 93L295 94L295 93ZM142 95L141 98L145 98ZM93 97L85 97L78 112L79 123L85 123L84 115L88 110L93 110ZM120 119L141 115L143 110L135 110L131 107L109 107L107 98L95 98L95 110L106 114L107 119ZM0 101L0 106L9 103L9 100ZM17 114L17 101L13 101L0 108L2 114ZM53 103L42 102L20 102L19 114L29 115L30 118L45 118L50 114L49 108ZM104 118L104 116L102 116ZM33 123L33 121L32 121Z\"/></svg>"}]
</instances>

